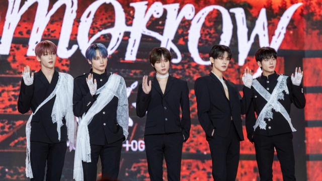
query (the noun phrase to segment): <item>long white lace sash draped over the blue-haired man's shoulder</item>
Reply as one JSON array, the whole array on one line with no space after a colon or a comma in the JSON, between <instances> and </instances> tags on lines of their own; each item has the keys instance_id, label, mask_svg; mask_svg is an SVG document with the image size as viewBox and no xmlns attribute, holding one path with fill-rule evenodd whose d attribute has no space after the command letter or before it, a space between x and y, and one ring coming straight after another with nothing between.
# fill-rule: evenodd
<instances>
[{"instance_id":1,"label":"long white lace sash draped over the blue-haired man's shoulder","mask_svg":"<svg viewBox=\"0 0 322 181\"><path fill-rule=\"evenodd\" d=\"M107 83L96 91L96 94L99 94L96 101L88 112L82 118L79 118L73 173L73 178L76 181L84 180L82 161L91 162L91 144L88 125L91 123L93 117L102 111L114 96L119 99L116 117L117 122L123 128L125 138L128 136L129 112L124 78L120 75L112 74Z\"/></svg>"}]
</instances>

